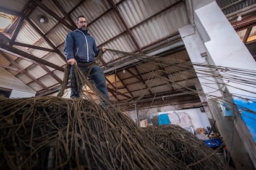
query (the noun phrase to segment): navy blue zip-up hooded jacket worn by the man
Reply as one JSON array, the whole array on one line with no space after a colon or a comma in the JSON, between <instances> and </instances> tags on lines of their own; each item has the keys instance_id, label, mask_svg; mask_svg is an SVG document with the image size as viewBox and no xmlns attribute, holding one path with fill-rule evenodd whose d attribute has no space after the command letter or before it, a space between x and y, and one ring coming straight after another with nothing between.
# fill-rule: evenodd
<instances>
[{"instance_id":1,"label":"navy blue zip-up hooded jacket worn by the man","mask_svg":"<svg viewBox=\"0 0 256 170\"><path fill-rule=\"evenodd\" d=\"M66 60L71 58L77 62L93 62L95 60L100 49L96 48L95 39L87 31L78 28L67 34L64 48Z\"/></svg>"}]
</instances>

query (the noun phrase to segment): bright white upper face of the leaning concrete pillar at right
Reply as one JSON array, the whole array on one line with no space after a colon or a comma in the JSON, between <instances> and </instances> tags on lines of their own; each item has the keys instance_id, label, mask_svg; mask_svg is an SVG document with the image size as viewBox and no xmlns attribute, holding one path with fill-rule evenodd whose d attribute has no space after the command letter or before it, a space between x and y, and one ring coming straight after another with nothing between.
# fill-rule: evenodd
<instances>
[{"instance_id":1,"label":"bright white upper face of the leaning concrete pillar at right","mask_svg":"<svg viewBox=\"0 0 256 170\"><path fill-rule=\"evenodd\" d=\"M207 42L205 41L204 44L213 63L216 66L236 68L240 70L239 72L245 73L245 75L239 75L231 72L231 76L234 78L241 76L241 79L245 81L252 79L252 76L246 75L246 73L249 72L247 70L256 72L256 62L218 4L215 1L210 2L196 9L195 15L195 18L198 19L195 25L201 30L205 30L203 31L204 33L207 33L207 36L202 37L208 37ZM225 72L223 71L222 74L224 75ZM255 81L255 79L252 79L252 81ZM231 94L247 99L255 99L256 85L240 84L232 81L224 82Z\"/></svg>"}]
</instances>

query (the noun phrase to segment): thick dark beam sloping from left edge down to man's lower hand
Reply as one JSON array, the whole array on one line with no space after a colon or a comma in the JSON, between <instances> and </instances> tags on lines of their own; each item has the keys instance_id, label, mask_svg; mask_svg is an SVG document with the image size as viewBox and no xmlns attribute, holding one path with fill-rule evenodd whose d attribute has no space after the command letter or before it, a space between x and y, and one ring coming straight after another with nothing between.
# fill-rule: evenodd
<instances>
[{"instance_id":1,"label":"thick dark beam sloping from left edge down to man's lower hand","mask_svg":"<svg viewBox=\"0 0 256 170\"><path fill-rule=\"evenodd\" d=\"M59 67L58 65L54 65L53 63L50 63L50 62L47 62L46 60L35 57L34 55L28 54L27 52L20 51L19 49L16 49L12 46L8 46L8 45L6 45L2 42L0 42L0 50L4 51L4 52L7 52L7 53L14 53L14 54L16 54L17 57L19 57L21 55L23 57L26 57L30 60L33 60L33 61L37 62L38 64L39 63L44 64L44 65L47 65L51 68L55 68L56 70L64 72L64 68Z\"/></svg>"}]
</instances>

